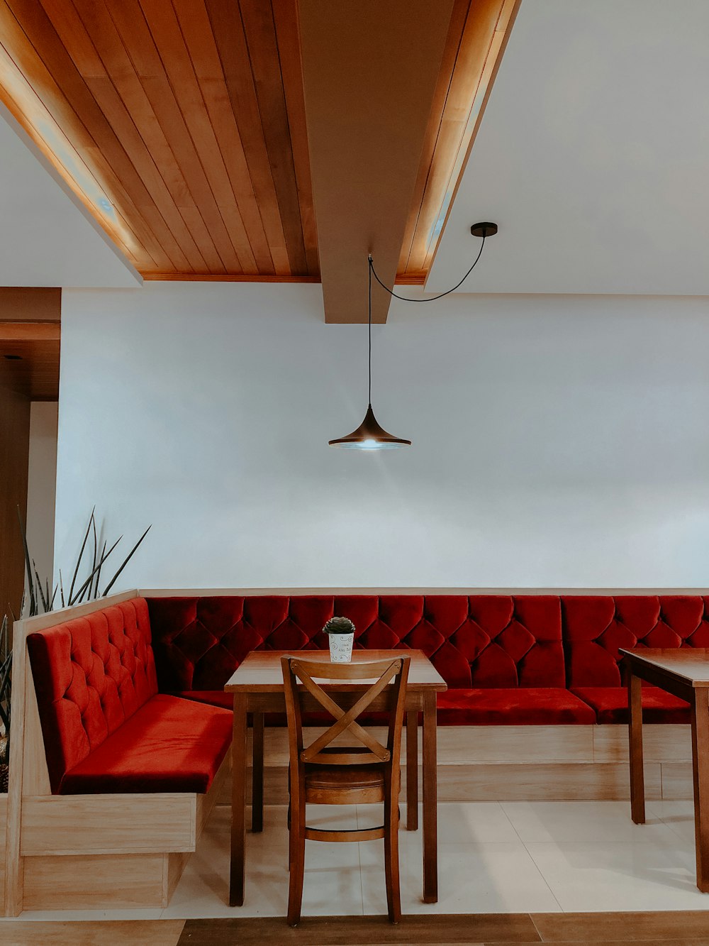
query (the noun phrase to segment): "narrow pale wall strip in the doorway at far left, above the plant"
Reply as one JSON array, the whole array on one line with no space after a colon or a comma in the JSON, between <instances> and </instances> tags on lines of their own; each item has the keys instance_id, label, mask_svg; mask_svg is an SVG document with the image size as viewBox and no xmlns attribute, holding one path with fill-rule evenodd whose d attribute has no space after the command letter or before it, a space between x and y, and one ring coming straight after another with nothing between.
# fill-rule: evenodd
<instances>
[{"instance_id":1,"label":"narrow pale wall strip in the doorway at far left, above the plant","mask_svg":"<svg viewBox=\"0 0 709 946\"><path fill-rule=\"evenodd\" d=\"M54 506L57 486L56 401L32 401L27 463L27 547L42 581L54 569Z\"/></svg>"}]
</instances>

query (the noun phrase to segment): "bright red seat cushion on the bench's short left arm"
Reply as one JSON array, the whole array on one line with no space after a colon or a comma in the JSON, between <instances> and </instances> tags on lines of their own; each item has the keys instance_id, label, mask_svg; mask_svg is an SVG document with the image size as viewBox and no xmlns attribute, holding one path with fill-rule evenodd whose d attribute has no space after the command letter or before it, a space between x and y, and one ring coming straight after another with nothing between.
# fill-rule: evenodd
<instances>
[{"instance_id":1,"label":"bright red seat cushion on the bench's short left arm","mask_svg":"<svg viewBox=\"0 0 709 946\"><path fill-rule=\"evenodd\" d=\"M231 742L231 712L158 693L63 776L59 794L206 792Z\"/></svg>"}]
</instances>

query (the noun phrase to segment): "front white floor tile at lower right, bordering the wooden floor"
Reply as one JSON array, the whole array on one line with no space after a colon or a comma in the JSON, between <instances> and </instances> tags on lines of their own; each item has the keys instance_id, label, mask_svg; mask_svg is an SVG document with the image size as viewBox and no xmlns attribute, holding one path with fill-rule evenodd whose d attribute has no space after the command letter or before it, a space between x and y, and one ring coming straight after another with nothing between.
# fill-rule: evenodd
<instances>
[{"instance_id":1,"label":"front white floor tile at lower right, bordering the wooden floor","mask_svg":"<svg viewBox=\"0 0 709 946\"><path fill-rule=\"evenodd\" d=\"M527 842L564 911L702 910L694 850L674 844ZM534 911L532 911L534 912Z\"/></svg>"}]
</instances>

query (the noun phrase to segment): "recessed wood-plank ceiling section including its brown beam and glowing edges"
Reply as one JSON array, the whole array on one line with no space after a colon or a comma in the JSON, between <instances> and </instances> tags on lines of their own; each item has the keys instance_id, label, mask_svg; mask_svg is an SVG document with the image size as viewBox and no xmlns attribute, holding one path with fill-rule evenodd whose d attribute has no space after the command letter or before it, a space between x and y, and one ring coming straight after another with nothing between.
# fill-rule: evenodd
<instances>
[{"instance_id":1,"label":"recessed wood-plank ceiling section including its brown beam and glowing edges","mask_svg":"<svg viewBox=\"0 0 709 946\"><path fill-rule=\"evenodd\" d=\"M0 99L144 278L352 266L359 321L369 245L424 282L519 2L0 0Z\"/></svg>"}]
</instances>

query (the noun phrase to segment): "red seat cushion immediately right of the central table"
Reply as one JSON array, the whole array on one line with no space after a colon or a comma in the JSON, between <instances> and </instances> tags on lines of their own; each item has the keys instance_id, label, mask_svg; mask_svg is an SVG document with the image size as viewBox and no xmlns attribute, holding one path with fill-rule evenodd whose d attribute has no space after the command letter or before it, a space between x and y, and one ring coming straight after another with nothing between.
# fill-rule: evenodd
<instances>
[{"instance_id":1,"label":"red seat cushion immediately right of the central table","mask_svg":"<svg viewBox=\"0 0 709 946\"><path fill-rule=\"evenodd\" d=\"M440 726L546 726L596 722L596 713L568 690L515 687L438 694Z\"/></svg>"}]
</instances>

